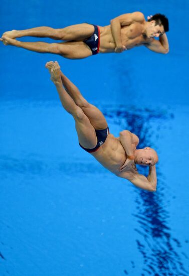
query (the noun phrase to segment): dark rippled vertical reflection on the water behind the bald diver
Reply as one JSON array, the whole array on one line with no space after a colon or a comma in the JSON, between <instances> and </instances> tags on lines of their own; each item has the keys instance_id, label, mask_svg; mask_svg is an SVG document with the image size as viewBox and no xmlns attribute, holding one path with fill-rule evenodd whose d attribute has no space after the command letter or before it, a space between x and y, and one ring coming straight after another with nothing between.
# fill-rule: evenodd
<instances>
[{"instance_id":1,"label":"dark rippled vertical reflection on the water behind the bald diver","mask_svg":"<svg viewBox=\"0 0 189 276\"><path fill-rule=\"evenodd\" d=\"M129 110L129 111L128 111ZM158 131L163 122L173 118L173 114L166 110L141 109L136 107L126 108L120 106L103 107L103 113L112 123L120 125L120 130L128 129L135 133L139 139L139 148L146 146L157 148ZM157 143L158 144L158 143ZM141 167L141 168L139 168ZM188 258L184 252L177 250L180 242L172 237L168 226L168 211L165 208L165 183L163 175L157 164L158 188L156 193L136 189L137 212L133 214L137 218L138 227L135 231L140 238L136 239L136 245L143 256L143 268L141 275L188 275L184 268L181 254ZM138 166L141 174L146 174L146 168ZM179 252L178 252L179 251ZM135 267L131 261L132 268ZM125 274L129 272L125 269Z\"/></svg>"}]
</instances>

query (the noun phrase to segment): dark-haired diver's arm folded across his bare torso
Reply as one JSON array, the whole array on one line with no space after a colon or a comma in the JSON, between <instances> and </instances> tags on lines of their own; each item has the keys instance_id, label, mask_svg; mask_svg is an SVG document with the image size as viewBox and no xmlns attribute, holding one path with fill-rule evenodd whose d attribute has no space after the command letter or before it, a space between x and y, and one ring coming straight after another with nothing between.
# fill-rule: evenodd
<instances>
[{"instance_id":1,"label":"dark-haired diver's arm folded across his bare torso","mask_svg":"<svg viewBox=\"0 0 189 276\"><path fill-rule=\"evenodd\" d=\"M120 52L124 50L121 42L121 26L128 26L128 25L131 25L133 22L143 22L143 21L144 21L144 15L140 12L134 12L132 14L124 14L111 20L112 36L115 41L116 48L118 50L120 49ZM120 52L117 51L117 53L120 53Z\"/></svg>"}]
</instances>

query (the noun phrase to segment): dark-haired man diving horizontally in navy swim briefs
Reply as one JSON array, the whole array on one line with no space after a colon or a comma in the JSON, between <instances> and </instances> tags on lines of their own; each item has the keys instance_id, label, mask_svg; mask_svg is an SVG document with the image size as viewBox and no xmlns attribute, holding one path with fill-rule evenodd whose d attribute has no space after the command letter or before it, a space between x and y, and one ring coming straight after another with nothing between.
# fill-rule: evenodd
<instances>
[{"instance_id":1,"label":"dark-haired man diving horizontally in navy swim briefs","mask_svg":"<svg viewBox=\"0 0 189 276\"><path fill-rule=\"evenodd\" d=\"M124 50L144 45L161 54L169 51L165 32L168 19L161 14L148 17L145 21L140 12L124 14L111 20L108 26L78 24L64 29L37 27L23 31L9 31L1 40L5 45L13 45L39 53L58 54L69 59L82 59L98 53L121 53ZM60 43L21 42L16 38L48 37L63 40ZM159 40L154 39L159 37Z\"/></svg>"}]
</instances>

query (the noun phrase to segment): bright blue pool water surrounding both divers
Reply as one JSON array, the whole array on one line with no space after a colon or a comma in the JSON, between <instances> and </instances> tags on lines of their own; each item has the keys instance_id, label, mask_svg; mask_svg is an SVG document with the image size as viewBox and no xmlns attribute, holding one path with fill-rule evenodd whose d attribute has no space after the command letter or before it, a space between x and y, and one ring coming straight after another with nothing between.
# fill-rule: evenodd
<instances>
[{"instance_id":1,"label":"bright blue pool water surrounding both divers","mask_svg":"<svg viewBox=\"0 0 189 276\"><path fill-rule=\"evenodd\" d=\"M0 275L189 274L188 10L184 0L2 2L2 33L161 12L170 22L170 52L139 47L66 60L0 45ZM113 134L129 129L140 147L157 150L156 193L81 150L44 67L49 60L103 111Z\"/></svg>"}]
</instances>

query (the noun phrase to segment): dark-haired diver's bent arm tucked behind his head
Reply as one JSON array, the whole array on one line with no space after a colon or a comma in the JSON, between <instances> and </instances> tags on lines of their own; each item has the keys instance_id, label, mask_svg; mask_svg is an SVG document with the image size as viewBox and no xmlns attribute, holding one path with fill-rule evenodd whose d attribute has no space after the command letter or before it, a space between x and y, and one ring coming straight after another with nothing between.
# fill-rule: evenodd
<instances>
[{"instance_id":1,"label":"dark-haired diver's bent arm tucked behind his head","mask_svg":"<svg viewBox=\"0 0 189 276\"><path fill-rule=\"evenodd\" d=\"M161 53L161 54L167 54L169 52L169 45L168 45L168 39L166 34L163 34L159 37L159 40L153 39L151 42L144 44L149 50Z\"/></svg>"}]
</instances>

